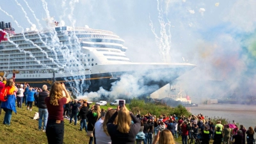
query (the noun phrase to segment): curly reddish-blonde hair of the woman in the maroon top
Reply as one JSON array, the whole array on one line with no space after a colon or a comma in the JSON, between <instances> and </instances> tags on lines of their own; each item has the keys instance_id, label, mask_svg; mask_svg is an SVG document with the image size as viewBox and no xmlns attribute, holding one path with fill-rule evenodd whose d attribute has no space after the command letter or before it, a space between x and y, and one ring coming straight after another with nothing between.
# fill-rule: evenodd
<instances>
[{"instance_id":1,"label":"curly reddish-blonde hair of the woman in the maroon top","mask_svg":"<svg viewBox=\"0 0 256 144\"><path fill-rule=\"evenodd\" d=\"M55 82L52 84L51 86L51 91L50 91L50 104L52 104L53 106L59 106L58 104L58 100L61 99L63 97L63 93L62 93L62 86L60 83Z\"/></svg>"}]
</instances>

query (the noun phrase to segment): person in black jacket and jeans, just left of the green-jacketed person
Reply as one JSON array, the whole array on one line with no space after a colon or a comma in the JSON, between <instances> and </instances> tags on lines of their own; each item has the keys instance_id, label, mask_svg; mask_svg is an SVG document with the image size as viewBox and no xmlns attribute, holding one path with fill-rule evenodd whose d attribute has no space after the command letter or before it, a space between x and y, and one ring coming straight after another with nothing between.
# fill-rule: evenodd
<instances>
[{"instance_id":1,"label":"person in black jacket and jeans, just left of the green-jacketed person","mask_svg":"<svg viewBox=\"0 0 256 144\"><path fill-rule=\"evenodd\" d=\"M80 109L79 113L77 116L81 116L81 122L80 122L80 131L83 131L83 128L85 128L85 131L87 132L87 124L86 124L86 115L88 113L88 106L87 102L83 101L83 106Z\"/></svg>"}]
</instances>

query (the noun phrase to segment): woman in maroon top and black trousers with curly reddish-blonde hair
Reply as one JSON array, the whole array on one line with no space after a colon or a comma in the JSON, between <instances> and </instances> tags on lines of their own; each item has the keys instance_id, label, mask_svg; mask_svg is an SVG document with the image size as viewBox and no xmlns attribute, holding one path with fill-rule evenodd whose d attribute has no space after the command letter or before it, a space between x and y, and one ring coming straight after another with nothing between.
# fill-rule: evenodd
<instances>
[{"instance_id":1,"label":"woman in maroon top and black trousers with curly reddish-blonde hair","mask_svg":"<svg viewBox=\"0 0 256 144\"><path fill-rule=\"evenodd\" d=\"M63 91L66 97L63 97ZM48 143L63 143L64 122L63 122L63 106L70 101L70 96L62 83L55 82L51 86L49 97L45 98L45 104L49 113L46 136Z\"/></svg>"}]
</instances>

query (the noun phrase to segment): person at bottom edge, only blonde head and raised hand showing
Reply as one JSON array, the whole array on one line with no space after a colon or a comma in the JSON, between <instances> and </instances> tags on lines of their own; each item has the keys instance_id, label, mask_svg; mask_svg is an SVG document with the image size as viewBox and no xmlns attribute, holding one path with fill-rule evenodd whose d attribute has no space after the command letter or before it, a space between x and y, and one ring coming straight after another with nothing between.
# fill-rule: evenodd
<instances>
[{"instance_id":1,"label":"person at bottom edge, only blonde head and raised hand showing","mask_svg":"<svg viewBox=\"0 0 256 144\"><path fill-rule=\"evenodd\" d=\"M172 132L170 132L168 129L164 129L161 133L158 132L153 144L156 144L157 141L159 144L175 144Z\"/></svg>"}]
</instances>

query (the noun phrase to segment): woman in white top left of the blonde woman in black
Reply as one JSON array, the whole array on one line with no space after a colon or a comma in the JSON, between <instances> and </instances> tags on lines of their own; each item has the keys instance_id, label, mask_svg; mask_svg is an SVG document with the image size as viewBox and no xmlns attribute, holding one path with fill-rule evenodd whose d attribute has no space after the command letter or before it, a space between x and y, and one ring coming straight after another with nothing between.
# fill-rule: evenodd
<instances>
[{"instance_id":1,"label":"woman in white top left of the blonde woman in black","mask_svg":"<svg viewBox=\"0 0 256 144\"><path fill-rule=\"evenodd\" d=\"M95 123L95 138L97 144L111 144L111 138L108 134L107 122L109 118L116 112L115 109L109 109L105 116L102 116ZM117 118L115 118L114 124L116 124Z\"/></svg>"}]
</instances>

